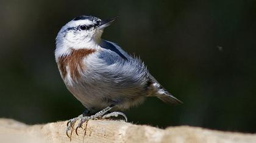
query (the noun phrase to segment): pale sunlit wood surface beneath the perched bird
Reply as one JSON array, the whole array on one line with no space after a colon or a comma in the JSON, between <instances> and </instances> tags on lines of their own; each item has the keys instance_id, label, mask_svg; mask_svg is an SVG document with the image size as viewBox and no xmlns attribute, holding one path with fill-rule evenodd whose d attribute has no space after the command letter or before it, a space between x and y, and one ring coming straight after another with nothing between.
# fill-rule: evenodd
<instances>
[{"instance_id":1,"label":"pale sunlit wood surface beneath the perched bird","mask_svg":"<svg viewBox=\"0 0 256 143\"><path fill-rule=\"evenodd\" d=\"M165 130L121 121L93 120L86 129L66 136L66 122L26 125L0 119L0 142L256 142L255 134L231 133L199 127L179 126ZM86 133L85 133L86 131Z\"/></svg>"}]
</instances>

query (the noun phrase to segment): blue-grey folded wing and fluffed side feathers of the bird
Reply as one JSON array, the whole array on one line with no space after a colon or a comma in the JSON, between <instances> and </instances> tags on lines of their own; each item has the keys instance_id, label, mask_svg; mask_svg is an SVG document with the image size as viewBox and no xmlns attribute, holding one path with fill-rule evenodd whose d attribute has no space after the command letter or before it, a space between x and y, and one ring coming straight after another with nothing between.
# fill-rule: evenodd
<instances>
[{"instance_id":1,"label":"blue-grey folded wing and fluffed side feathers of the bird","mask_svg":"<svg viewBox=\"0 0 256 143\"><path fill-rule=\"evenodd\" d=\"M98 58L92 61L94 75L101 76L113 88L140 88L146 84L148 69L139 58L128 55L113 42L101 42ZM97 67L97 68L96 68ZM92 69L92 68L91 68Z\"/></svg>"}]
</instances>

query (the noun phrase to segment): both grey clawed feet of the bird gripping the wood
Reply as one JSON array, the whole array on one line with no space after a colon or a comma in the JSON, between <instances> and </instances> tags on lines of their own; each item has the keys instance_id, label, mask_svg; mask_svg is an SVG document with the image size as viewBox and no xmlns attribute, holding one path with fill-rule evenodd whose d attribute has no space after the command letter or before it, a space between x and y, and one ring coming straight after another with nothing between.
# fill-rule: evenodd
<instances>
[{"instance_id":1,"label":"both grey clawed feet of the bird gripping the wood","mask_svg":"<svg viewBox=\"0 0 256 143\"><path fill-rule=\"evenodd\" d=\"M70 119L67 123L67 128L66 128L66 135L68 136L68 138L71 139L73 130L76 131L76 135L78 136L77 133L77 129L78 128L82 128L82 125L84 122L87 122L90 119L106 119L106 118L111 118L111 117L117 117L118 115L123 116L126 119L127 122L127 117L124 113L119 112L119 111L114 111L112 113L107 113L108 111L110 111L113 107L107 107L104 108L103 110L99 111L98 113L91 115L91 116L83 116L83 115L79 115L77 118L73 118ZM76 121L79 121L79 123L77 124L76 129L74 128L74 125L76 124ZM70 136L68 135L68 131L71 130Z\"/></svg>"}]
</instances>

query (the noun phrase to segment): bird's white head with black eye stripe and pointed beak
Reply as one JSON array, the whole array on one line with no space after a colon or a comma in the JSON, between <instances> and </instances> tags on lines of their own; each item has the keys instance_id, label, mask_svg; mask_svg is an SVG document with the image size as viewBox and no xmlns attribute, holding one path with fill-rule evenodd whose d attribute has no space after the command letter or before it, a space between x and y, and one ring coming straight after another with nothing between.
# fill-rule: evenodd
<instances>
[{"instance_id":1,"label":"bird's white head with black eye stripe and pointed beak","mask_svg":"<svg viewBox=\"0 0 256 143\"><path fill-rule=\"evenodd\" d=\"M92 48L101 42L103 30L112 24L117 17L101 20L94 16L77 16L64 25L56 38L56 51L63 54L63 50L73 48ZM64 53L65 54L65 53Z\"/></svg>"}]
</instances>

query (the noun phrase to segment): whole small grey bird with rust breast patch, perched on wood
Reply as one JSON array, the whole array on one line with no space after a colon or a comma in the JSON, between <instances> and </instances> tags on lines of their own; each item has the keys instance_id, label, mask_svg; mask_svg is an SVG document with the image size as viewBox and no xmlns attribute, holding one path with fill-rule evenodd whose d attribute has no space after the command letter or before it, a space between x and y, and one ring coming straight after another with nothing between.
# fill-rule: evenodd
<instances>
[{"instance_id":1,"label":"whole small grey bird with rust breast patch, perched on wood","mask_svg":"<svg viewBox=\"0 0 256 143\"><path fill-rule=\"evenodd\" d=\"M77 16L57 34L55 61L60 76L86 108L82 115L68 121L66 135L69 130L72 133L76 122L77 131L89 119L121 115L127 121L121 111L141 104L149 96L171 105L182 103L159 84L140 58L101 38L116 19Z\"/></svg>"}]
</instances>

